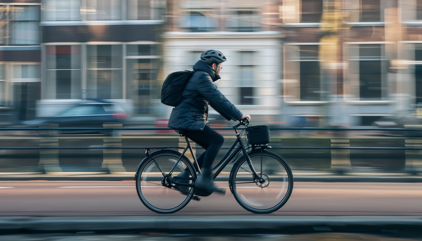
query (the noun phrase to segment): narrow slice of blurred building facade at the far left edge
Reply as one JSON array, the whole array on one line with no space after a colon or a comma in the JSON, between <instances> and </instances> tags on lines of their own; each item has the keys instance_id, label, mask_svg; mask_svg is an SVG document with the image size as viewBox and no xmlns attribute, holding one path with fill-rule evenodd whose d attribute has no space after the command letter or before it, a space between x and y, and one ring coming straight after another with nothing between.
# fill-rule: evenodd
<instances>
[{"instance_id":1,"label":"narrow slice of blurred building facade at the far left edge","mask_svg":"<svg viewBox=\"0 0 422 241\"><path fill-rule=\"evenodd\" d=\"M0 2L0 118L35 117L41 98L40 1Z\"/></svg>"}]
</instances>

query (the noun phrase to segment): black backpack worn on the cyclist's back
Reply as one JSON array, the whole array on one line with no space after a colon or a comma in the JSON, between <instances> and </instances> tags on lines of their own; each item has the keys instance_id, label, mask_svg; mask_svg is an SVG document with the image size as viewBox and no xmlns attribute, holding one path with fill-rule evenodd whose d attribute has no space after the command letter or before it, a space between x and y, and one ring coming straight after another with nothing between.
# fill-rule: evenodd
<instances>
[{"instance_id":1,"label":"black backpack worn on the cyclist's back","mask_svg":"<svg viewBox=\"0 0 422 241\"><path fill-rule=\"evenodd\" d=\"M196 70L185 70L170 73L162 84L161 103L173 107L179 105L184 86L195 72Z\"/></svg>"}]
</instances>

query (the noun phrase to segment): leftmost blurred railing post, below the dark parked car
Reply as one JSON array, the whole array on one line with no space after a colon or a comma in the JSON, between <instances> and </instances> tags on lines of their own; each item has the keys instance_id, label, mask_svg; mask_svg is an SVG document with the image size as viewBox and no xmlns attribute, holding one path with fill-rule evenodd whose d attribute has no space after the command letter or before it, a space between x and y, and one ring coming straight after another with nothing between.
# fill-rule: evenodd
<instances>
[{"instance_id":1,"label":"leftmost blurred railing post, below the dark parked car","mask_svg":"<svg viewBox=\"0 0 422 241\"><path fill-rule=\"evenodd\" d=\"M58 128L59 125L42 125L40 128ZM58 147L59 146L59 135L58 130L45 130L39 132L40 147ZM40 162L38 167L44 170L44 173L55 173L62 172L59 163L59 150L57 149L41 149L40 150Z\"/></svg>"}]
</instances>

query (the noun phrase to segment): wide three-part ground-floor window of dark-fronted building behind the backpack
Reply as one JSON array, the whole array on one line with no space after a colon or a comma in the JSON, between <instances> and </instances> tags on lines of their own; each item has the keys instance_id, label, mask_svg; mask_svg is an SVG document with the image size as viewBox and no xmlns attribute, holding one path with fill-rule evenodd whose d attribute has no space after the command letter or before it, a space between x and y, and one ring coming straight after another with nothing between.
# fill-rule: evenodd
<instances>
[{"instance_id":1,"label":"wide three-part ground-floor window of dark-fronted building behind the backpack","mask_svg":"<svg viewBox=\"0 0 422 241\"><path fill-rule=\"evenodd\" d=\"M159 98L157 46L47 45L43 99L125 98L133 100L135 114L151 114Z\"/></svg>"}]
</instances>

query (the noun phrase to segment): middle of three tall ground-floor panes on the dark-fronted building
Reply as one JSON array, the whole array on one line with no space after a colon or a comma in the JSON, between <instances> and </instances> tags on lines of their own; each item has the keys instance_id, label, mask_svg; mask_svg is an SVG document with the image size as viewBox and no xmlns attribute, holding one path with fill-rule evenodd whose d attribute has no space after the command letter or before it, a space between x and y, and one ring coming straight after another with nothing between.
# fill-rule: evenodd
<instances>
[{"instance_id":1,"label":"middle of three tall ground-floor panes on the dark-fronted building","mask_svg":"<svg viewBox=\"0 0 422 241\"><path fill-rule=\"evenodd\" d=\"M87 97L122 98L122 45L87 46Z\"/></svg>"}]
</instances>

